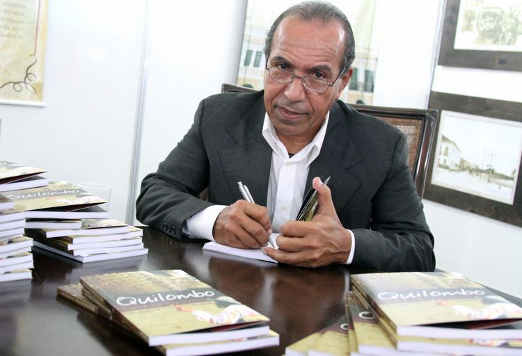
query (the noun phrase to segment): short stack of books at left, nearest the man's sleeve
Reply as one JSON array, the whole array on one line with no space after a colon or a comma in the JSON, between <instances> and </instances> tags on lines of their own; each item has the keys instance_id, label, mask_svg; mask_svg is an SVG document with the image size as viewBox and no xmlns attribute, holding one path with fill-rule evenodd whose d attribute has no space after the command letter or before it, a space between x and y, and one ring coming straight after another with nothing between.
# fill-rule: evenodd
<instances>
[{"instance_id":1,"label":"short stack of books at left, nearest the man's sleeve","mask_svg":"<svg viewBox=\"0 0 522 356\"><path fill-rule=\"evenodd\" d=\"M79 220L77 229L34 229L25 233L38 248L83 263L147 254L143 230L113 219Z\"/></svg>"}]
</instances>

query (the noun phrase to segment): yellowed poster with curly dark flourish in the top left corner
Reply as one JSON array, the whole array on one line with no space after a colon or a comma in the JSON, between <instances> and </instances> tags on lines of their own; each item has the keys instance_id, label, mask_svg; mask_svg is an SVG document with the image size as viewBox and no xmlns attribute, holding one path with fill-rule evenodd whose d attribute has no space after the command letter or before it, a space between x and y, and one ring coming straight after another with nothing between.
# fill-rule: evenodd
<instances>
[{"instance_id":1,"label":"yellowed poster with curly dark flourish in the top left corner","mask_svg":"<svg viewBox=\"0 0 522 356\"><path fill-rule=\"evenodd\" d=\"M0 104L42 106L47 0L0 1Z\"/></svg>"}]
</instances>

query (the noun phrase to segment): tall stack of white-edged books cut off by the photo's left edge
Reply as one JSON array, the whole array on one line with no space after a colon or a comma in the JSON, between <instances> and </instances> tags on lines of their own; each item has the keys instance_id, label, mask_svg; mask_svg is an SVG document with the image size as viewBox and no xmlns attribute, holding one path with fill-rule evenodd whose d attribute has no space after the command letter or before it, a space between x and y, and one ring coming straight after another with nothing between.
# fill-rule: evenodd
<instances>
[{"instance_id":1,"label":"tall stack of white-edged books cut off by the photo's left edge","mask_svg":"<svg viewBox=\"0 0 522 356\"><path fill-rule=\"evenodd\" d=\"M0 282L32 278L33 240L24 234L24 211L0 195Z\"/></svg>"}]
</instances>

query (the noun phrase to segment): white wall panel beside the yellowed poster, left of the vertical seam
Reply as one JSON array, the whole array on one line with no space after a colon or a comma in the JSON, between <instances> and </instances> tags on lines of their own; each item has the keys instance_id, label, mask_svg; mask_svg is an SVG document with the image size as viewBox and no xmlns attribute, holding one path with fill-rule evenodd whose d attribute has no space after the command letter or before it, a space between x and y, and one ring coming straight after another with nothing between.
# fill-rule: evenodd
<instances>
[{"instance_id":1,"label":"white wall panel beside the yellowed poster, left of the vertical seam","mask_svg":"<svg viewBox=\"0 0 522 356\"><path fill-rule=\"evenodd\" d=\"M113 188L127 209L143 0L49 1L45 108L0 105L0 159L47 169L49 180Z\"/></svg>"}]
</instances>

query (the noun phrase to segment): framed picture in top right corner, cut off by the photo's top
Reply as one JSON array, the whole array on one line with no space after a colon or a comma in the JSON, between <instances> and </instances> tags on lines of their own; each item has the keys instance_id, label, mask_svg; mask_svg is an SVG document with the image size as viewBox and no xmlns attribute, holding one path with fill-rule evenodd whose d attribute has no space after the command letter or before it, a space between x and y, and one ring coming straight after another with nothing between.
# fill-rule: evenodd
<instances>
[{"instance_id":1,"label":"framed picture in top right corner, cut off by the photo's top","mask_svg":"<svg viewBox=\"0 0 522 356\"><path fill-rule=\"evenodd\" d=\"M438 65L522 71L522 0L447 0Z\"/></svg>"}]
</instances>

